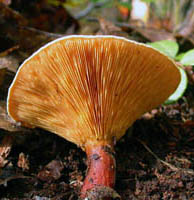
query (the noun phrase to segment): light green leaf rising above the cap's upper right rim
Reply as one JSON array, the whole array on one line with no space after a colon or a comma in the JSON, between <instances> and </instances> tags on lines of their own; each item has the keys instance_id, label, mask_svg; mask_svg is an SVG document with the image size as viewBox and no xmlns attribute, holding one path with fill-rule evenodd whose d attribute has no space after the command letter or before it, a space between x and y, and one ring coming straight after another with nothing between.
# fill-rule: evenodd
<instances>
[{"instance_id":1,"label":"light green leaf rising above the cap's upper right rim","mask_svg":"<svg viewBox=\"0 0 194 200\"><path fill-rule=\"evenodd\" d=\"M175 58L179 46L178 43L172 40L161 40L157 42L148 43L151 47L159 50L160 52L164 53L165 55Z\"/></svg>"}]
</instances>

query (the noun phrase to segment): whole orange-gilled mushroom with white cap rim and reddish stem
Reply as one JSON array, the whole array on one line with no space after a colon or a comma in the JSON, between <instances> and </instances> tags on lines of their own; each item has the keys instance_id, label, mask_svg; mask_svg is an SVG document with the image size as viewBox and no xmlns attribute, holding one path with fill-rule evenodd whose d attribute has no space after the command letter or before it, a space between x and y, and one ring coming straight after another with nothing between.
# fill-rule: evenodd
<instances>
[{"instance_id":1,"label":"whole orange-gilled mushroom with white cap rim and reddish stem","mask_svg":"<svg viewBox=\"0 0 194 200\"><path fill-rule=\"evenodd\" d=\"M177 88L180 72L159 51L117 36L67 36L20 66L9 88L10 117L82 148L88 171L81 189L115 184L114 145L142 114Z\"/></svg>"}]
</instances>

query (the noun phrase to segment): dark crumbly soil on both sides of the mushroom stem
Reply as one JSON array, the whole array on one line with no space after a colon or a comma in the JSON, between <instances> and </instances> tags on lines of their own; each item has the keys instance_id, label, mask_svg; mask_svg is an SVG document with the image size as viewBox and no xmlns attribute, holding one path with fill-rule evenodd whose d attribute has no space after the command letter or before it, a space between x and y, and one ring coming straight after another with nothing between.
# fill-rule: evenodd
<instances>
[{"instance_id":1,"label":"dark crumbly soil on both sides of the mushroom stem","mask_svg":"<svg viewBox=\"0 0 194 200\"><path fill-rule=\"evenodd\" d=\"M116 144L122 199L194 199L193 91L190 85L176 104L146 113ZM18 165L21 152L27 167ZM7 160L0 199L78 199L86 156L76 145L41 129L24 131L14 134Z\"/></svg>"}]
</instances>

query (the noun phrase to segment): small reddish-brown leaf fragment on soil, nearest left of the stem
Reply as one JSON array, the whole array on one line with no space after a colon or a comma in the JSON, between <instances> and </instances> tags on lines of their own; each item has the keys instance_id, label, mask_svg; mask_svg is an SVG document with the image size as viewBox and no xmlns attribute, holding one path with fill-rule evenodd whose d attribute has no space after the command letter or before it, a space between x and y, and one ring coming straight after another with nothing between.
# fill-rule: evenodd
<instances>
[{"instance_id":1,"label":"small reddish-brown leaf fragment on soil, nearest left of the stem","mask_svg":"<svg viewBox=\"0 0 194 200\"><path fill-rule=\"evenodd\" d=\"M41 181L52 182L61 177L64 165L60 160L52 160L37 175Z\"/></svg>"}]
</instances>

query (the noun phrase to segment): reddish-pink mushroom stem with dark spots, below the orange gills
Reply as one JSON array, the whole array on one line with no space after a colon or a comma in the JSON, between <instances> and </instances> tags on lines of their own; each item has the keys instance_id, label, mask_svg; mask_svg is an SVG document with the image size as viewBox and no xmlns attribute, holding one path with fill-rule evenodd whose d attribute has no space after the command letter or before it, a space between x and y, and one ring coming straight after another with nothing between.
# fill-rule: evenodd
<instances>
[{"instance_id":1,"label":"reddish-pink mushroom stem with dark spots, below the orange gills","mask_svg":"<svg viewBox=\"0 0 194 200\"><path fill-rule=\"evenodd\" d=\"M116 170L114 150L110 145L87 146L86 154L88 169L81 190L83 199L96 188L113 188Z\"/></svg>"}]
</instances>

